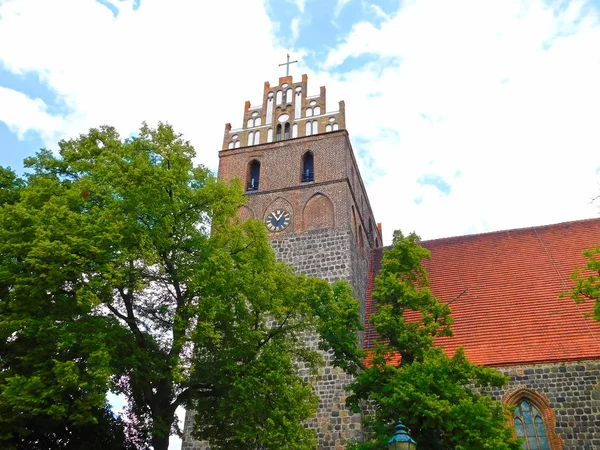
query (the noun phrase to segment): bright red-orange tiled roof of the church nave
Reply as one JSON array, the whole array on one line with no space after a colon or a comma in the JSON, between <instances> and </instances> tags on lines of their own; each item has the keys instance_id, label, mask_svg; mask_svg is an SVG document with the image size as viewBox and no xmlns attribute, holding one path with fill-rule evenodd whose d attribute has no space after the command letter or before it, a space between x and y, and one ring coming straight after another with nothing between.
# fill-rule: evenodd
<instances>
[{"instance_id":1,"label":"bright red-orange tiled roof of the church nave","mask_svg":"<svg viewBox=\"0 0 600 450\"><path fill-rule=\"evenodd\" d=\"M451 303L454 336L436 343L452 354L464 346L468 358L490 366L600 359L600 323L559 294L583 268L581 252L600 245L600 219L423 241L433 294ZM383 249L371 255L367 318ZM376 334L365 332L366 348Z\"/></svg>"}]
</instances>

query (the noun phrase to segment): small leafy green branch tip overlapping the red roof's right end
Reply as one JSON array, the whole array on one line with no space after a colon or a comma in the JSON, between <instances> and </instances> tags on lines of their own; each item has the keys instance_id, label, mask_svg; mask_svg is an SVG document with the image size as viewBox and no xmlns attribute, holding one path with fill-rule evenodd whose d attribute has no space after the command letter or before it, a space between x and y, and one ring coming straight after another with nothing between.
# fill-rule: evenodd
<instances>
[{"instance_id":1,"label":"small leafy green branch tip overlapping the red roof's right end","mask_svg":"<svg viewBox=\"0 0 600 450\"><path fill-rule=\"evenodd\" d=\"M571 290L563 292L561 297L568 295L576 303L593 301L594 307L589 315L594 320L600 321L600 247L584 250L582 254L587 258L585 268L575 268L571 274L575 286Z\"/></svg>"}]
</instances>

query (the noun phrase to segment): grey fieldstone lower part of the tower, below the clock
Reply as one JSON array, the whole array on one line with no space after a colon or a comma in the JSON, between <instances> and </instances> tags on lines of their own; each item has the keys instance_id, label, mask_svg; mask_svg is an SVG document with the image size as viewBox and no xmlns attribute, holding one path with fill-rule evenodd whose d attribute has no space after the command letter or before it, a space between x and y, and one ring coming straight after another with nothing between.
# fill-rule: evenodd
<instances>
[{"instance_id":1,"label":"grey fieldstone lower part of the tower, below the clock","mask_svg":"<svg viewBox=\"0 0 600 450\"><path fill-rule=\"evenodd\" d=\"M357 248L350 230L311 230L296 235L281 234L281 238L276 235L271 239L271 246L277 259L291 264L297 272L323 278L330 283L348 280L355 288L355 296L364 302L368 251ZM312 349L318 346L315 335L308 336L306 342ZM330 354L324 354L323 358L325 365L313 379L309 378L306 369L300 368L300 375L314 385L320 399L317 413L307 426L316 430L319 449L343 450L348 443L362 440L361 417L351 414L345 404L344 388L352 381L352 377L332 366ZM186 414L183 450L208 449L206 443L190 437L192 425L191 414Z\"/></svg>"}]
</instances>

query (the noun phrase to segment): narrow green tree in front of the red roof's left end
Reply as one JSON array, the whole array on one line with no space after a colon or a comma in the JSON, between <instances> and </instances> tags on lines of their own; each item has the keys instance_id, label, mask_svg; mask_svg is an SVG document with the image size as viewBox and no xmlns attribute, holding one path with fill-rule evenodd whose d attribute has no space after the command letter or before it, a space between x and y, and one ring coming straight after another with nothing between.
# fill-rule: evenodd
<instances>
[{"instance_id":1,"label":"narrow green tree in front of the red roof's left end","mask_svg":"<svg viewBox=\"0 0 600 450\"><path fill-rule=\"evenodd\" d=\"M395 232L393 247L384 252L370 319L379 338L348 399L355 411L371 407L365 420L371 439L354 448L387 448L402 420L419 450L520 449L506 411L478 393L506 379L471 364L462 349L449 357L434 344L438 336L451 336L452 317L428 288L425 258L429 252L414 233Z\"/></svg>"}]
</instances>

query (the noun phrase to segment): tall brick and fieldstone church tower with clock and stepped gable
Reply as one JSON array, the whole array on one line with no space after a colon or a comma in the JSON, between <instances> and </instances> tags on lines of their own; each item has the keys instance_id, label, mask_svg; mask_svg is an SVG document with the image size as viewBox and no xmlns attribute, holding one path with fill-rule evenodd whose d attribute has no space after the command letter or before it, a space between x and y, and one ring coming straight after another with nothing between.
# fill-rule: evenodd
<instances>
[{"instance_id":1,"label":"tall brick and fieldstone church tower with clock and stepped gable","mask_svg":"<svg viewBox=\"0 0 600 450\"><path fill-rule=\"evenodd\" d=\"M248 203L239 216L265 224L280 261L329 282L348 280L364 319L369 255L381 246L381 229L346 131L344 102L327 111L325 87L313 96L307 88L307 75L298 82L281 77L277 86L265 82L262 105L246 102L242 128L225 125L219 179L242 181ZM317 431L319 449L343 449L360 439L360 417L345 407L351 377L324 356L314 383L319 409L308 426ZM184 439L183 448L204 447Z\"/></svg>"}]
</instances>

